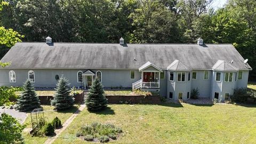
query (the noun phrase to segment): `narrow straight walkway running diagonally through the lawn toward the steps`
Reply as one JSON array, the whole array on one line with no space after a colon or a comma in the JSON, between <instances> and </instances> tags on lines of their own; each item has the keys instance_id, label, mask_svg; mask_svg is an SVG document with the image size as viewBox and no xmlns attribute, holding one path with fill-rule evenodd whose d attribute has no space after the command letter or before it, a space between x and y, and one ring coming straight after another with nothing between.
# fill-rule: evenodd
<instances>
[{"instance_id":1,"label":"narrow straight walkway running diagonally through the lawn toward the steps","mask_svg":"<svg viewBox=\"0 0 256 144\"><path fill-rule=\"evenodd\" d=\"M69 124L76 118L76 116L80 113L80 111L82 111L83 109L85 108L85 105L81 105L77 110L76 112L71 115L67 121L65 123L63 123L61 129L57 129L55 130L55 133L56 135L54 137L51 137L49 139L47 139L44 143L45 144L50 144L50 143L53 143L55 139L57 139L59 137L59 135L67 129L67 127L69 126Z\"/></svg>"}]
</instances>

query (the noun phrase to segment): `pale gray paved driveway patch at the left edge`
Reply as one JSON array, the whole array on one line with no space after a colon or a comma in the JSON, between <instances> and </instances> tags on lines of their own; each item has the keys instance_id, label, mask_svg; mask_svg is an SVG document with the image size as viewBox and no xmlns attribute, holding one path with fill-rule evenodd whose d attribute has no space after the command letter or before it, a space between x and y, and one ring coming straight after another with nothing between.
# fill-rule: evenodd
<instances>
[{"instance_id":1,"label":"pale gray paved driveway patch at the left edge","mask_svg":"<svg viewBox=\"0 0 256 144\"><path fill-rule=\"evenodd\" d=\"M21 124L25 121L27 114L23 112L16 111L14 109L2 109L0 108L0 115L2 113L6 113L11 115L12 117L15 117Z\"/></svg>"}]
</instances>

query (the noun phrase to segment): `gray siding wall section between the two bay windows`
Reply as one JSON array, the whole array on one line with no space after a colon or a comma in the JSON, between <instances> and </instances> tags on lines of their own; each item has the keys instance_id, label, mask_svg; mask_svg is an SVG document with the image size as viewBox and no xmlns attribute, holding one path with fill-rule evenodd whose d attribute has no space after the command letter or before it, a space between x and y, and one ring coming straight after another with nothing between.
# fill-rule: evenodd
<instances>
[{"instance_id":1,"label":"gray siding wall section between the two bay windows","mask_svg":"<svg viewBox=\"0 0 256 144\"><path fill-rule=\"evenodd\" d=\"M196 70L196 79L192 79L191 72L191 88L199 90L199 98L210 98L211 75L212 71L208 71L208 79L204 79L204 70Z\"/></svg>"}]
</instances>

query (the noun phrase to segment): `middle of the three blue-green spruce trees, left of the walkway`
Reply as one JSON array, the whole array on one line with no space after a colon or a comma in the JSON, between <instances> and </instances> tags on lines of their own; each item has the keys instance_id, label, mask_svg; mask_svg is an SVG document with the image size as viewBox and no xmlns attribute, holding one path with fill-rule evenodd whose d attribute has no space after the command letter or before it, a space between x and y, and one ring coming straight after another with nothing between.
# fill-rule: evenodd
<instances>
[{"instance_id":1,"label":"middle of the three blue-green spruce trees, left of the walkway","mask_svg":"<svg viewBox=\"0 0 256 144\"><path fill-rule=\"evenodd\" d=\"M71 89L65 77L59 79L55 90L54 99L51 101L55 109L66 109L73 106L74 98L70 95Z\"/></svg>"}]
</instances>

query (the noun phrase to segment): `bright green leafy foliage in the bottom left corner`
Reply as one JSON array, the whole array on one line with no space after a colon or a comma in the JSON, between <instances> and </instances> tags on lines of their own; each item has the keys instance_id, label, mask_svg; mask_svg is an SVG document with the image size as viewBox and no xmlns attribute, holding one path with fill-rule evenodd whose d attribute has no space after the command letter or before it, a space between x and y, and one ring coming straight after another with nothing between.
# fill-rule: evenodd
<instances>
[{"instance_id":1,"label":"bright green leafy foliage in the bottom left corner","mask_svg":"<svg viewBox=\"0 0 256 144\"><path fill-rule=\"evenodd\" d=\"M23 141L21 132L25 125L21 125L15 118L7 114L0 117L0 143L19 143Z\"/></svg>"}]
</instances>

